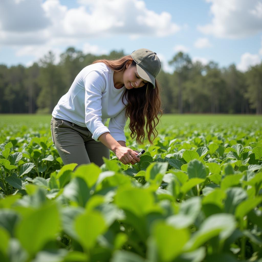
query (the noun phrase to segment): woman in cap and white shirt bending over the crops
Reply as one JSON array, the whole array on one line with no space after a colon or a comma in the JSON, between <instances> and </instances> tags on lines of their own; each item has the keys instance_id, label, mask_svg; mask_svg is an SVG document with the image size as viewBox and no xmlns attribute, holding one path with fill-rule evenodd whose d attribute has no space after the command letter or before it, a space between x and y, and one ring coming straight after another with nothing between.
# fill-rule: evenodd
<instances>
[{"instance_id":1,"label":"woman in cap and white shirt bending over the crops","mask_svg":"<svg viewBox=\"0 0 262 262\"><path fill-rule=\"evenodd\" d=\"M142 48L130 56L98 60L82 69L52 113L52 140L63 163L101 166L102 157L109 158L109 149L125 165L139 162L138 151L125 145L124 126L129 117L130 136L136 136L138 144L145 138L145 127L152 144L157 114L162 113L155 80L160 68L156 53Z\"/></svg>"}]
</instances>

